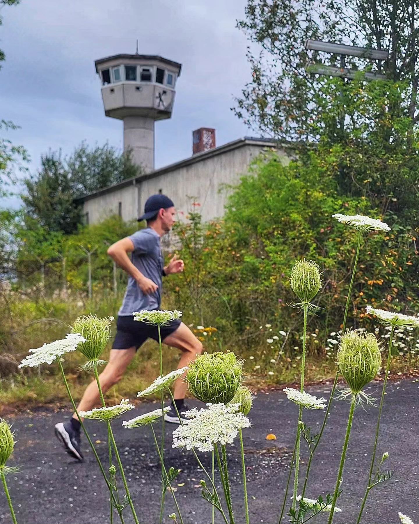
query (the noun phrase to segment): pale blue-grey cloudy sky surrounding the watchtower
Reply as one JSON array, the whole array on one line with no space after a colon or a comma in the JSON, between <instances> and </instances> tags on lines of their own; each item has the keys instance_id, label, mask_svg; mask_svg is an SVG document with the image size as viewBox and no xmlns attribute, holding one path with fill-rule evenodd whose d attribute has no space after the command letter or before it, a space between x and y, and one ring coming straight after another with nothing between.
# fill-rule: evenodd
<instances>
[{"instance_id":1,"label":"pale blue-grey cloudy sky surrounding the watchtower","mask_svg":"<svg viewBox=\"0 0 419 524\"><path fill-rule=\"evenodd\" d=\"M1 11L0 118L21 129L31 171L48 149L82 140L123 147L122 121L105 117L94 61L117 53L182 63L172 118L156 124L156 168L192 154L192 130L216 129L217 145L252 133L230 107L250 79L247 40L236 29L246 0L21 0ZM2 206L17 205L17 199Z\"/></svg>"}]
</instances>

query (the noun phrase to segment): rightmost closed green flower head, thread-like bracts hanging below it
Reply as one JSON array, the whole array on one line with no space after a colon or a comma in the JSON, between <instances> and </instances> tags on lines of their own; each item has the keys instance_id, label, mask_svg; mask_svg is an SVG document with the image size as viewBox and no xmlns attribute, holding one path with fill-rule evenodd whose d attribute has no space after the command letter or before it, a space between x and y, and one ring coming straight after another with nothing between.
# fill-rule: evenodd
<instances>
[{"instance_id":1,"label":"rightmost closed green flower head, thread-like bracts hanging below it","mask_svg":"<svg viewBox=\"0 0 419 524\"><path fill-rule=\"evenodd\" d=\"M337 353L339 371L352 393L359 393L373 380L381 365L381 353L372 333L348 331Z\"/></svg>"}]
</instances>

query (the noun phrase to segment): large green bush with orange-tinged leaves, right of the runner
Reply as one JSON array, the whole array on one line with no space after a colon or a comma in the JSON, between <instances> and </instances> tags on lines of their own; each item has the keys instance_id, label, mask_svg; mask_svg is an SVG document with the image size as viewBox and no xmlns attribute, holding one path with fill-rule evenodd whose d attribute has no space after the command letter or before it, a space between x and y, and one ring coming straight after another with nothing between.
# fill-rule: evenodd
<instances>
[{"instance_id":1,"label":"large green bush with orange-tinged leaves, right of the runner","mask_svg":"<svg viewBox=\"0 0 419 524\"><path fill-rule=\"evenodd\" d=\"M259 340L259 326L272 319L277 329L292 331L297 317L286 307L295 300L290 269L295 258L306 257L317 261L325 278L317 302L322 309L310 319L310 329L323 329L321 340L330 330L338 331L356 249L356 235L332 218L343 212L382 217L392 228L367 235L361 245L349 319L358 322L368 303L419 309L417 222L408 220L417 207L401 212L402 221L393 211L381 215L365 195L341 194L330 169L333 159L334 151L320 148L284 166L268 152L233 190L222 221L205 229L192 213L189 222L178 225L185 270L176 282L167 281L179 296L177 307L182 309L187 300L198 268L201 285L213 286L227 300L234 329L245 344Z\"/></svg>"}]
</instances>

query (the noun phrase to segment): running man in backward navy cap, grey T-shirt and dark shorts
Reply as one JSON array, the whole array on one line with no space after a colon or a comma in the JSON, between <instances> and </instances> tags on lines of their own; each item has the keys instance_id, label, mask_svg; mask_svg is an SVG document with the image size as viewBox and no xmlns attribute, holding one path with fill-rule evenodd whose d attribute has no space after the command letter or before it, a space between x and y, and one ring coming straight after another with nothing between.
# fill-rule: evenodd
<instances>
[{"instance_id":1,"label":"running man in backward navy cap, grey T-shirt and dark shorts","mask_svg":"<svg viewBox=\"0 0 419 524\"><path fill-rule=\"evenodd\" d=\"M159 340L157 326L135 321L133 313L145 309L160 309L162 277L182 272L184 267L183 260L179 260L176 255L163 267L160 238L169 233L175 222L173 202L165 195L152 195L147 199L144 211L138 221L146 220L147 227L115 242L108 249L108 255L128 273L129 279L122 307L118 312L117 332L109 362L99 377L104 393L124 376L138 348L147 339ZM202 352L201 342L180 320L161 326L160 331L164 344L181 351L178 369L187 366ZM187 388L183 377L176 381L173 398L179 411L185 410ZM93 380L84 391L78 411L88 411L99 403L99 391ZM174 406L171 406L164 418L167 422L179 423ZM76 414L73 414L70 421L56 424L55 432L67 452L75 459L83 461L80 422Z\"/></svg>"}]
</instances>

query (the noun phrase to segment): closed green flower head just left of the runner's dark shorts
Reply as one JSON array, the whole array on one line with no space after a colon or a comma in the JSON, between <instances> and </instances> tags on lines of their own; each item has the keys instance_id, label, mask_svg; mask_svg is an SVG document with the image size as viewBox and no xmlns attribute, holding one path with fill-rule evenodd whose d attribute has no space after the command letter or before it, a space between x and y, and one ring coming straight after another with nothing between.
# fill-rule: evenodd
<instances>
[{"instance_id":1,"label":"closed green flower head just left of the runner's dark shorts","mask_svg":"<svg viewBox=\"0 0 419 524\"><path fill-rule=\"evenodd\" d=\"M98 362L109 337L111 337L111 323L113 316L98 318L96 315L79 316L73 324L73 333L80 333L86 339L78 345L78 350L89 359L89 362Z\"/></svg>"}]
</instances>

